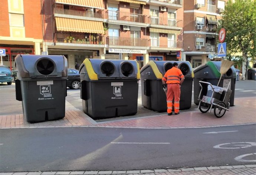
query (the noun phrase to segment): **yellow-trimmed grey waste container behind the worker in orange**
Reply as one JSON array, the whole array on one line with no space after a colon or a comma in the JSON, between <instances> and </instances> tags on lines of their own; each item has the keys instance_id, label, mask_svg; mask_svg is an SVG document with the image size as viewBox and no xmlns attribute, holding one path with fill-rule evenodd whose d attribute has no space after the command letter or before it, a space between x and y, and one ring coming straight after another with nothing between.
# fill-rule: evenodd
<instances>
[{"instance_id":1,"label":"yellow-trimmed grey waste container behind the worker in orange","mask_svg":"<svg viewBox=\"0 0 256 175\"><path fill-rule=\"evenodd\" d=\"M141 98L142 106L153 111L167 111L166 95L163 91L162 78L173 63L178 63L178 68L185 76L181 86L180 110L191 107L193 70L189 61L149 61L141 68Z\"/></svg>"}]
</instances>

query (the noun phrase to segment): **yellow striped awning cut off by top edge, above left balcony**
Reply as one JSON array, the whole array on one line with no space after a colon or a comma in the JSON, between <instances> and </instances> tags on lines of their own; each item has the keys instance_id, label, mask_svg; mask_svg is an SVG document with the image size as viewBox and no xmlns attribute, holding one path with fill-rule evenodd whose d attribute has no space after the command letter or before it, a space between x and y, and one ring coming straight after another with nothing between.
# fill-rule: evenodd
<instances>
[{"instance_id":1,"label":"yellow striped awning cut off by top edge, above left balcony","mask_svg":"<svg viewBox=\"0 0 256 175\"><path fill-rule=\"evenodd\" d=\"M55 0L55 3L105 9L103 0Z\"/></svg>"}]
</instances>

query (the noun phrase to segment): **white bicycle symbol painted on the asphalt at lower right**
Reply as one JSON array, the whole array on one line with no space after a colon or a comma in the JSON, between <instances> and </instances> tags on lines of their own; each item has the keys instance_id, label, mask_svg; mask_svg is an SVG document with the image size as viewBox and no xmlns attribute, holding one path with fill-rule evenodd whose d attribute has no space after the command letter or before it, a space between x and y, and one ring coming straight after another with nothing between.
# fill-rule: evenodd
<instances>
[{"instance_id":1,"label":"white bicycle symbol painted on the asphalt at lower right","mask_svg":"<svg viewBox=\"0 0 256 175\"><path fill-rule=\"evenodd\" d=\"M231 147L225 147L230 146ZM233 146L233 147L232 147ZM225 143L225 144L219 144L214 146L213 148L219 148L219 149L239 149L239 148L249 148L256 146L256 142L234 142L234 143ZM256 160L245 160L244 157L256 155L256 153L250 153L250 154L243 154L235 157L234 159L238 162L256 162ZM255 156L256 157L256 156Z\"/></svg>"}]
</instances>

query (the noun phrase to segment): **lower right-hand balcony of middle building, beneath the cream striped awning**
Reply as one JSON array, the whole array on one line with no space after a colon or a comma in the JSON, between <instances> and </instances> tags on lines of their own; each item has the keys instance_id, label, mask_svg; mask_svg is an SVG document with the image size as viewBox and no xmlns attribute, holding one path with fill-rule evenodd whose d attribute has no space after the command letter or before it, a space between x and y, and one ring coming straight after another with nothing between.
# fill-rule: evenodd
<instances>
[{"instance_id":1,"label":"lower right-hand balcony of middle building, beneath the cream striped awning","mask_svg":"<svg viewBox=\"0 0 256 175\"><path fill-rule=\"evenodd\" d=\"M181 50L183 41L168 40L167 38L150 39L152 50Z\"/></svg>"}]
</instances>

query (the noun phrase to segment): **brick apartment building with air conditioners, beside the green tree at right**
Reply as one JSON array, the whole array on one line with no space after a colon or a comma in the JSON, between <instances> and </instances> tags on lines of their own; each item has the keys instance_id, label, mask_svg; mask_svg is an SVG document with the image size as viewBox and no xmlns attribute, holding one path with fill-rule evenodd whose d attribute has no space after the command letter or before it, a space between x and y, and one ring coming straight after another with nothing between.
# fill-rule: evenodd
<instances>
[{"instance_id":1,"label":"brick apartment building with air conditioners, beside the green tree at right","mask_svg":"<svg viewBox=\"0 0 256 175\"><path fill-rule=\"evenodd\" d=\"M193 68L214 60L217 54L217 26L228 0L184 0L183 57Z\"/></svg>"}]
</instances>

